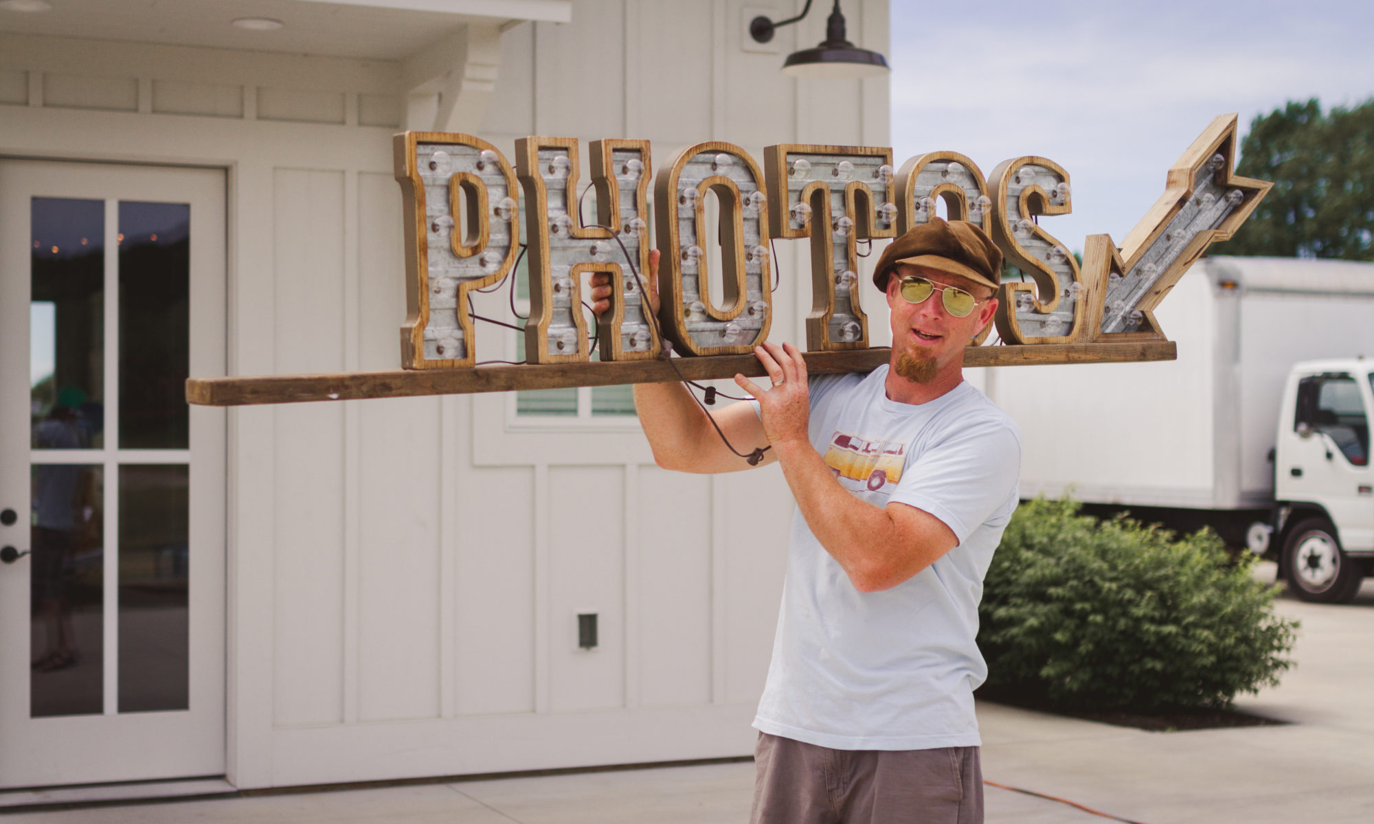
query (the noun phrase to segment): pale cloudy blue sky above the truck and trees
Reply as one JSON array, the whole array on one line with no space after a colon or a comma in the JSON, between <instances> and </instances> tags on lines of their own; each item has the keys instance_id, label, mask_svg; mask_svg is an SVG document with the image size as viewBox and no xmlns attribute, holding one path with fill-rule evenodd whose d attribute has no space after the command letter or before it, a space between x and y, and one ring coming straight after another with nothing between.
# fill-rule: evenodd
<instances>
[{"instance_id":1,"label":"pale cloudy blue sky above the truck and trees","mask_svg":"<svg viewBox=\"0 0 1374 824\"><path fill-rule=\"evenodd\" d=\"M1040 155L1073 213L1041 227L1072 250L1120 246L1169 166L1219 114L1374 98L1374 0L892 0L892 144L954 150L989 174Z\"/></svg>"}]
</instances>

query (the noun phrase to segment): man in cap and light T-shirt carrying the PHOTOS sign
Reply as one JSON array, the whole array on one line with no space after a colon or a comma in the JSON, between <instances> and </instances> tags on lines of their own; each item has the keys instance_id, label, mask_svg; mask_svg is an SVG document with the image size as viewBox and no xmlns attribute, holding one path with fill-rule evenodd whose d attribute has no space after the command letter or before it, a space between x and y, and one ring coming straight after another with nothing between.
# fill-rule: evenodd
<instances>
[{"instance_id":1,"label":"man in cap and light T-shirt carrying the PHOTOS sign","mask_svg":"<svg viewBox=\"0 0 1374 824\"><path fill-rule=\"evenodd\" d=\"M754 720L754 824L982 821L977 608L1017 505L1021 442L962 368L1000 268L973 224L911 229L874 272L888 365L808 379L796 346L764 343L772 386L736 375L754 401L716 413L739 452L771 448L763 463L782 464L797 500ZM598 310L609 294L594 291ZM639 385L635 405L660 466L749 468L684 386Z\"/></svg>"}]
</instances>

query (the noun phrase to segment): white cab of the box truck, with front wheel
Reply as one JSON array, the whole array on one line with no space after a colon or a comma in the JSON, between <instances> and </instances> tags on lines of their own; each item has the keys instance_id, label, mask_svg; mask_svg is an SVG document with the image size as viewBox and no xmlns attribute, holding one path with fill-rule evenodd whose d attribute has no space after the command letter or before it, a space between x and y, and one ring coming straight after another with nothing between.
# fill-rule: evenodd
<instances>
[{"instance_id":1,"label":"white cab of the box truck, with front wheel","mask_svg":"<svg viewBox=\"0 0 1374 824\"><path fill-rule=\"evenodd\" d=\"M1348 603L1374 571L1374 361L1289 372L1274 448L1279 575L1303 600Z\"/></svg>"}]
</instances>

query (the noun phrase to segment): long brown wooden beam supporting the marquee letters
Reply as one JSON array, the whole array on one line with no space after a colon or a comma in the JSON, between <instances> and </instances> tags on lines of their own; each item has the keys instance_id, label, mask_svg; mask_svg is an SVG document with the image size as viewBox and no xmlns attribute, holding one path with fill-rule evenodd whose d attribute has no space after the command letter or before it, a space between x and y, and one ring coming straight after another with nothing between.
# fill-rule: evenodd
<instances>
[{"instance_id":1,"label":"long brown wooden beam supporting the marquee letters","mask_svg":"<svg viewBox=\"0 0 1374 824\"><path fill-rule=\"evenodd\" d=\"M868 372L888 363L890 349L808 352L812 375ZM1110 364L1178 358L1172 341L1129 343L1040 343L1035 346L974 346L965 367L1017 367L1026 364ZM676 368L675 368L676 367ZM617 383L664 383L764 375L753 354L679 357L661 360L591 361L577 364L525 364L471 369L394 369L324 375L262 375L254 378L191 378L185 400L205 407L297 404L304 401L353 401L431 394L470 394Z\"/></svg>"}]
</instances>

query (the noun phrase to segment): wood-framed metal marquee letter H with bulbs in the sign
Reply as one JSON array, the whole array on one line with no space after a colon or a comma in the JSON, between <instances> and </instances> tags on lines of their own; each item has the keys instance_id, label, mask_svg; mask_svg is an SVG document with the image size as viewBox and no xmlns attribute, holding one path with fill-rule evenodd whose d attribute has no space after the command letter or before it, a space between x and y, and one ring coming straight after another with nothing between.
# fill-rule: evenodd
<instances>
[{"instance_id":1,"label":"wood-framed metal marquee letter H with bulbs in the sign","mask_svg":"<svg viewBox=\"0 0 1374 824\"><path fill-rule=\"evenodd\" d=\"M600 360L658 354L644 293L649 276L649 141L594 140L596 224L578 209L576 137L521 137L517 169L525 185L530 316L525 353L532 364L589 358L583 276L605 272L611 308L598 321Z\"/></svg>"}]
</instances>

